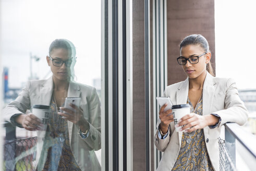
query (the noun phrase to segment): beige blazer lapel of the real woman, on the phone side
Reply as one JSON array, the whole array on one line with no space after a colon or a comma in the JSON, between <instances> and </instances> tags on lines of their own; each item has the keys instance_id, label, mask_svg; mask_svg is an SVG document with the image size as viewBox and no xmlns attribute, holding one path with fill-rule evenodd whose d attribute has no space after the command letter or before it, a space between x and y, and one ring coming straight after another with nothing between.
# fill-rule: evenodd
<instances>
[{"instance_id":1,"label":"beige blazer lapel of the real woman, on the phone side","mask_svg":"<svg viewBox=\"0 0 256 171\"><path fill-rule=\"evenodd\" d=\"M180 84L177 92L176 92L176 104L186 104L188 99L188 86L189 86L188 78ZM178 132L179 134L179 144L181 144L182 132Z\"/></svg>"}]
</instances>

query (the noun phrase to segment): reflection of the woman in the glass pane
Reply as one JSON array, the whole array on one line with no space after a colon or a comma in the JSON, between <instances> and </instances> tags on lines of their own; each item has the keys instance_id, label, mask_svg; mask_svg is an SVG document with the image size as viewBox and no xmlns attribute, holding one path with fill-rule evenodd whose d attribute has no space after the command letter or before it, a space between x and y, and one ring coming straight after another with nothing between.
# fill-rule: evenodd
<instances>
[{"instance_id":1,"label":"reflection of the woman in the glass pane","mask_svg":"<svg viewBox=\"0 0 256 171\"><path fill-rule=\"evenodd\" d=\"M38 130L37 170L101 169L93 151L101 148L100 101L95 88L72 81L75 55L70 41L53 41L46 57L53 76L29 81L4 109L7 121L30 131ZM75 112L63 107L66 97L81 98L80 106L71 105ZM33 104L51 107L46 131L40 131L42 123L34 114L26 114Z\"/></svg>"}]
</instances>

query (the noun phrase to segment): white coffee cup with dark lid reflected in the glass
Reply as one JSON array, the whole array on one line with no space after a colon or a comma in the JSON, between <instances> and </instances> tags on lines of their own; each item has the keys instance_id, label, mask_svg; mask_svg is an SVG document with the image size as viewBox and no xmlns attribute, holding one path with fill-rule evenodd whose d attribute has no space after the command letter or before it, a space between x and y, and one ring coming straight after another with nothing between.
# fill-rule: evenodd
<instances>
[{"instance_id":1,"label":"white coffee cup with dark lid reflected in the glass","mask_svg":"<svg viewBox=\"0 0 256 171\"><path fill-rule=\"evenodd\" d=\"M46 130L47 125L49 123L49 115L50 115L50 106L48 105L38 105L38 104L34 104L33 106L31 106L32 109L32 113L38 117L43 126L41 126L41 130Z\"/></svg>"}]
</instances>

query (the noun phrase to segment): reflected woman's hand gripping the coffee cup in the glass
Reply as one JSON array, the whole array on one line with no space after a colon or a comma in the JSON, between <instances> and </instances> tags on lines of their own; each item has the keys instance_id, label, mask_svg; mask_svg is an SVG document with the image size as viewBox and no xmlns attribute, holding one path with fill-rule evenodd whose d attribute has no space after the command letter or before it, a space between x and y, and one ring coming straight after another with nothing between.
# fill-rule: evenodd
<instances>
[{"instance_id":1,"label":"reflected woman's hand gripping the coffee cup in the glass","mask_svg":"<svg viewBox=\"0 0 256 171\"><path fill-rule=\"evenodd\" d=\"M32 113L19 115L16 122L29 131L40 130L40 126L43 126L41 120Z\"/></svg>"}]
</instances>

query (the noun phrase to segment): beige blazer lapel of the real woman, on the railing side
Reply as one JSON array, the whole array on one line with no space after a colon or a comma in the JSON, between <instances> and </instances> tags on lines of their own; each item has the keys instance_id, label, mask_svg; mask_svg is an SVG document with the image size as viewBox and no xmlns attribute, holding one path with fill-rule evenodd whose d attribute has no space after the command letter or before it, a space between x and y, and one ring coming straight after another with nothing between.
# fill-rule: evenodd
<instances>
[{"instance_id":1,"label":"beige blazer lapel of the real woman, on the railing side","mask_svg":"<svg viewBox=\"0 0 256 171\"><path fill-rule=\"evenodd\" d=\"M216 81L214 77L207 72L203 83L203 113L202 115L208 115L211 112L213 97L216 89ZM209 127L203 129L204 135L208 134Z\"/></svg>"}]
</instances>

